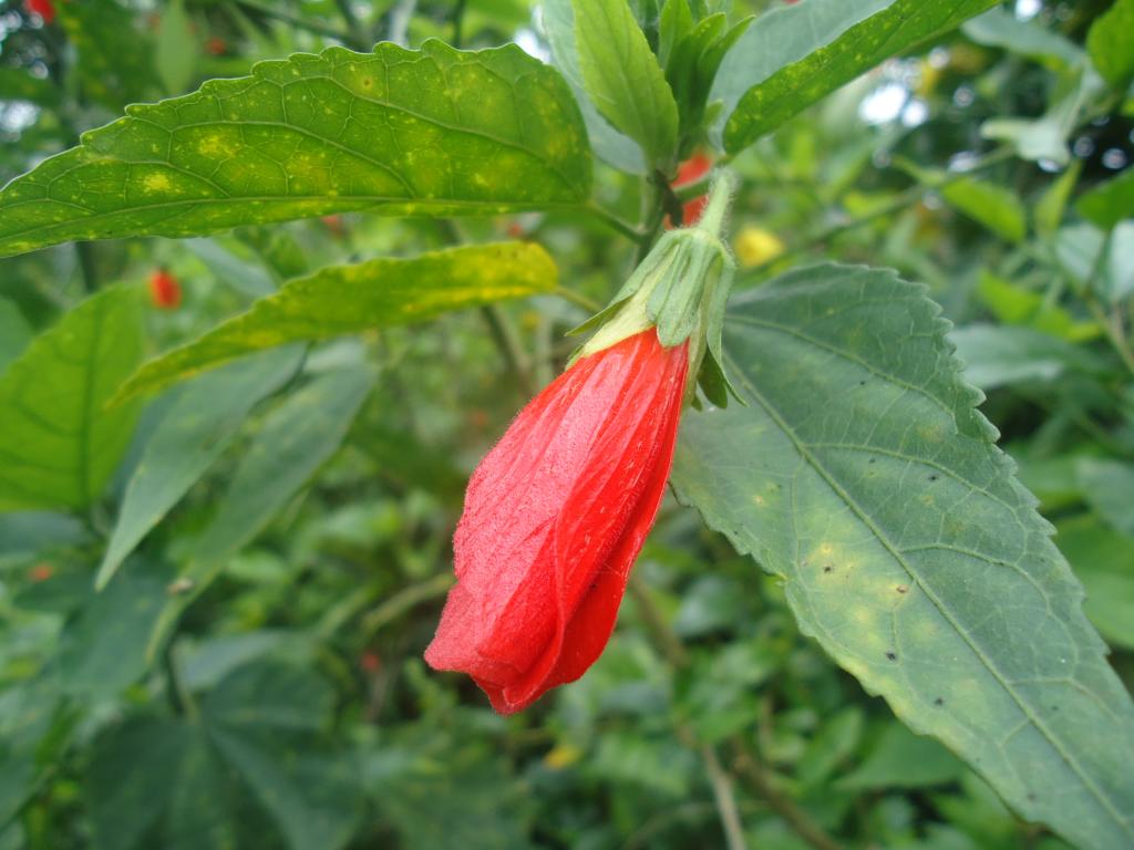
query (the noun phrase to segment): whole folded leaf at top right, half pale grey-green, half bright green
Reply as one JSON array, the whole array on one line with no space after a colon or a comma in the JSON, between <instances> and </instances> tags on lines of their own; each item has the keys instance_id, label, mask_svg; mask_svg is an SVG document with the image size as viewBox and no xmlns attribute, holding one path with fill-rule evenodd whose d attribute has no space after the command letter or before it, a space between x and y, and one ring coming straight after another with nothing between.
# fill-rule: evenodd
<instances>
[{"instance_id":1,"label":"whole folded leaf at top right, half pale grey-green, half bright green","mask_svg":"<svg viewBox=\"0 0 1134 850\"><path fill-rule=\"evenodd\" d=\"M996 6L996 0L806 0L756 19L718 74L736 153L820 97ZM743 95L737 95L743 92Z\"/></svg>"}]
</instances>

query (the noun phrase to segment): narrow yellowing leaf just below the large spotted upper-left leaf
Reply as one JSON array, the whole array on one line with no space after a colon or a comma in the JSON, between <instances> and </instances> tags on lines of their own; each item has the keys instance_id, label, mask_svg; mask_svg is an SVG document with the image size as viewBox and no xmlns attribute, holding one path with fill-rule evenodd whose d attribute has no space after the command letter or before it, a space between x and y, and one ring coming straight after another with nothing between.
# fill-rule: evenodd
<instances>
[{"instance_id":1,"label":"narrow yellowing leaf just below the large spotted upper-left leaf","mask_svg":"<svg viewBox=\"0 0 1134 850\"><path fill-rule=\"evenodd\" d=\"M455 309L549 292L557 280L548 253L521 241L329 266L285 284L247 313L150 360L116 401L154 392L253 351L428 322Z\"/></svg>"}]
</instances>

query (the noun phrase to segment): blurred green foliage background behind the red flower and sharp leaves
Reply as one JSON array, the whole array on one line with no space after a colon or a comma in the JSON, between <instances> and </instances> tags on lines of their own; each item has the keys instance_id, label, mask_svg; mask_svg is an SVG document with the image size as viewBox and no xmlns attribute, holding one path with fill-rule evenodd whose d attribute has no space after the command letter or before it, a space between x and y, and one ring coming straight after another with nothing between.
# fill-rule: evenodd
<instances>
[{"instance_id":1,"label":"blurred green foliage background behind the red flower and sharp leaves","mask_svg":"<svg viewBox=\"0 0 1134 850\"><path fill-rule=\"evenodd\" d=\"M641 20L655 6L631 5ZM57 7L44 25L0 2L2 180L126 103L293 51L441 37L550 54L527 0ZM776 247L750 258L738 289L819 258L930 286L1127 687L1134 35L1116 46L1114 20L1129 8L1009 3L733 161L738 253L755 233L778 239L760 241ZM623 219L641 186L595 168L598 203ZM562 332L587 315L577 301L603 303L632 266L634 246L592 215L345 214L3 260L0 369L87 294L122 283L108 295L139 300L159 266L184 300L147 309L150 354L327 265L506 239L544 246L576 297L277 352L231 409L175 435L200 473L162 477L178 492L146 500L153 528L103 592L95 570L147 439L215 392L209 377L145 407L105 498L0 513L0 850L677 850L725 845L729 799L762 850L1066 847L898 723L801 634L775 579L671 499L581 681L505 720L463 677L425 668L467 475L565 363ZM0 428L0 444L18 437Z\"/></svg>"}]
</instances>

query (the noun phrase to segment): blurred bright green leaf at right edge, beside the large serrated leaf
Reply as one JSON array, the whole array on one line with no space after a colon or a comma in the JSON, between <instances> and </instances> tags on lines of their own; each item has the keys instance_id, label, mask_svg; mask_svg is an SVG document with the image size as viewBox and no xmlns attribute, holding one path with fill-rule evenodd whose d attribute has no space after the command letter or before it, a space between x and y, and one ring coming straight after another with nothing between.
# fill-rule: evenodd
<instances>
[{"instance_id":1,"label":"blurred bright green leaf at right edge, beside the large serrated leaf","mask_svg":"<svg viewBox=\"0 0 1134 850\"><path fill-rule=\"evenodd\" d=\"M1056 543L1086 588L1086 615L1111 644L1134 649L1134 537L1090 513L1064 519L1058 529Z\"/></svg>"}]
</instances>

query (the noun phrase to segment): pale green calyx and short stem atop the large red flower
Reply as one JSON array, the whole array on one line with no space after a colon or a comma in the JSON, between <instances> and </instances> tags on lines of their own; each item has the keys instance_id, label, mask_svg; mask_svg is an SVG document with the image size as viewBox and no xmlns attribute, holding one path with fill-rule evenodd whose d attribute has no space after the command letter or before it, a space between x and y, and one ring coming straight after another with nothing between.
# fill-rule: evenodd
<instances>
[{"instance_id":1,"label":"pale green calyx and short stem atop the large red flower","mask_svg":"<svg viewBox=\"0 0 1134 850\"><path fill-rule=\"evenodd\" d=\"M576 358L601 351L650 328L666 348L689 341L689 371L705 398L718 407L739 398L725 375L721 331L736 264L721 241L733 180L719 173L695 227L670 230L634 270L609 305L572 333L598 332Z\"/></svg>"}]
</instances>

